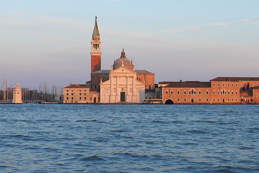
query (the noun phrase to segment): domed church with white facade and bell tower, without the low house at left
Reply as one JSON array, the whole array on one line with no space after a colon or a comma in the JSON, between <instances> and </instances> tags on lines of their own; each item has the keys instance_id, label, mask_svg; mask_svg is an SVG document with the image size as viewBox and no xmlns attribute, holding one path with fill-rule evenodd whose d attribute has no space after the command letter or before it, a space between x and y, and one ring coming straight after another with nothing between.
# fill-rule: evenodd
<instances>
[{"instance_id":1,"label":"domed church with white facade and bell tower, without the low house at left","mask_svg":"<svg viewBox=\"0 0 259 173\"><path fill-rule=\"evenodd\" d=\"M109 70L101 69L101 54L101 39L95 18L91 40L91 81L86 82L86 86L100 91L100 103L143 103L145 89L155 90L155 74L135 70L124 49Z\"/></svg>"}]
</instances>

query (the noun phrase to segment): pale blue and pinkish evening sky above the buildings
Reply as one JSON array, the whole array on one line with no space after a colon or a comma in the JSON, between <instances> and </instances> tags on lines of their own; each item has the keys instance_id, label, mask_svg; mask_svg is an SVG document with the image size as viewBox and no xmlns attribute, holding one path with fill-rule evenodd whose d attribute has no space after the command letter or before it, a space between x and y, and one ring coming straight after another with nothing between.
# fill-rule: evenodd
<instances>
[{"instance_id":1,"label":"pale blue and pinkish evening sky above the buildings","mask_svg":"<svg viewBox=\"0 0 259 173\"><path fill-rule=\"evenodd\" d=\"M0 0L0 87L90 80L95 17L102 69L122 48L162 81L259 77L259 0ZM1 89L1 88L0 88Z\"/></svg>"}]
</instances>

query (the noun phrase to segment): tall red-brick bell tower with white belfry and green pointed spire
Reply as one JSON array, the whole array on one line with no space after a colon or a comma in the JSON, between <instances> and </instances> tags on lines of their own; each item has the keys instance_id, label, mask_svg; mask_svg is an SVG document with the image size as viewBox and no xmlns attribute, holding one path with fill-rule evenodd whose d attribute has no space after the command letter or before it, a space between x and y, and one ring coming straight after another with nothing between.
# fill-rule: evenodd
<instances>
[{"instance_id":1,"label":"tall red-brick bell tower with white belfry and green pointed spire","mask_svg":"<svg viewBox=\"0 0 259 173\"><path fill-rule=\"evenodd\" d=\"M97 17L95 17L95 25L91 41L91 73L101 69L101 39L96 20Z\"/></svg>"}]
</instances>

